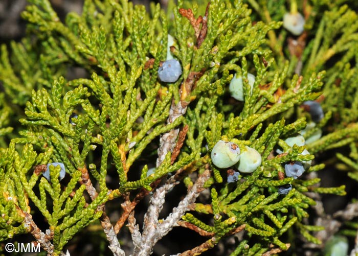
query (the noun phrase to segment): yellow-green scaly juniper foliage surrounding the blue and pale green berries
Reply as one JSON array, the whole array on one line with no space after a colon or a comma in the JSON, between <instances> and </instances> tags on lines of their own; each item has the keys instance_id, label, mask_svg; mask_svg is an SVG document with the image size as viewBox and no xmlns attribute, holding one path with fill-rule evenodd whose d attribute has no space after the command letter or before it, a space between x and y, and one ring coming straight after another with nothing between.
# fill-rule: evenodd
<instances>
[{"instance_id":1,"label":"yellow-green scaly juniper foliage surrounding the blue and pale green berries","mask_svg":"<svg viewBox=\"0 0 358 256\"><path fill-rule=\"evenodd\" d=\"M62 22L48 0L28 2L27 37L1 48L2 241L29 233L60 255L97 225L114 255L149 255L181 225L207 240L171 253L199 255L231 236L231 255L286 251L296 236L324 242L310 207L318 194L346 194L344 184L320 187L325 153L339 149L333 165L358 180L358 16L349 5L182 0L147 11L126 0L86 0L82 14ZM295 8L305 12L300 36L282 27ZM158 69L170 58L182 74L166 83ZM76 68L83 75L73 78ZM230 95L234 75L243 101ZM324 115L312 122L303 103L316 100ZM290 145L299 133L303 146ZM210 158L220 140L255 149L261 165L228 183L237 166L220 169ZM50 166L51 181L42 177L52 162L63 163L63 180L60 166ZM286 175L293 162L302 163L302 176ZM178 183L187 193L159 219ZM292 190L280 194L285 185ZM133 213L145 197L139 228ZM120 217L109 219L108 209ZM130 251L118 241L126 224Z\"/></svg>"}]
</instances>

